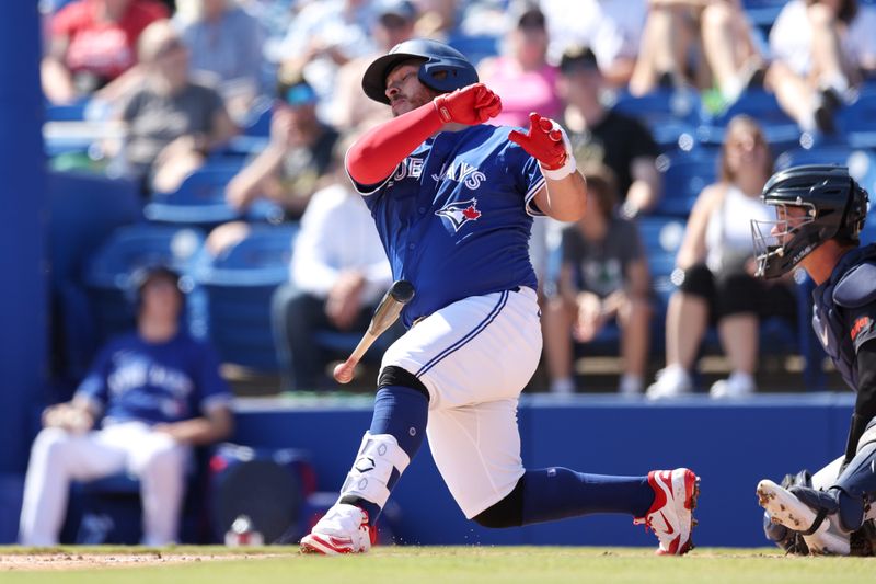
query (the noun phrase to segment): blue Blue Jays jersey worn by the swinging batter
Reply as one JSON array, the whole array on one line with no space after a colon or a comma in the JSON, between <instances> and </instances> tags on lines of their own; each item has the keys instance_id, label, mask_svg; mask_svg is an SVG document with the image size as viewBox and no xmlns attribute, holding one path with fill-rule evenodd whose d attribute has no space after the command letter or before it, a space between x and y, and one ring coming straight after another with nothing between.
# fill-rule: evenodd
<instances>
[{"instance_id":1,"label":"blue Blue Jays jersey worn by the swinging batter","mask_svg":"<svg viewBox=\"0 0 876 584\"><path fill-rule=\"evenodd\" d=\"M537 288L529 261L532 198L544 185L538 161L508 140L514 128L441 131L383 183L356 185L374 218L394 279L416 295L405 327L457 300Z\"/></svg>"}]
</instances>

